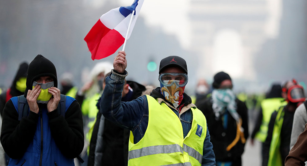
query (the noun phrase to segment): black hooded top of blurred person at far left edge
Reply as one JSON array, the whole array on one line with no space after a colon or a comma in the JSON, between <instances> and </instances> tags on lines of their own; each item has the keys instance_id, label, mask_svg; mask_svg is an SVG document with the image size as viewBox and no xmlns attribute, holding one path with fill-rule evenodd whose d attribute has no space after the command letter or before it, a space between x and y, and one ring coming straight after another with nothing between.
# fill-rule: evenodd
<instances>
[{"instance_id":1,"label":"black hooded top of blurred person at far left edge","mask_svg":"<svg viewBox=\"0 0 307 166\"><path fill-rule=\"evenodd\" d=\"M10 87L10 95L11 95L10 97L20 96L20 95L24 94L24 92L18 91L16 89L16 82L21 77L27 77L28 67L29 67L29 65L26 62L23 62L19 65L19 68L18 68L17 73L15 75L15 78L13 80L13 83ZM7 93L7 91L3 92L0 95L0 114L1 114L1 116L2 116L2 113L3 113L3 108L4 108L5 103L6 103L6 93Z\"/></svg>"}]
</instances>

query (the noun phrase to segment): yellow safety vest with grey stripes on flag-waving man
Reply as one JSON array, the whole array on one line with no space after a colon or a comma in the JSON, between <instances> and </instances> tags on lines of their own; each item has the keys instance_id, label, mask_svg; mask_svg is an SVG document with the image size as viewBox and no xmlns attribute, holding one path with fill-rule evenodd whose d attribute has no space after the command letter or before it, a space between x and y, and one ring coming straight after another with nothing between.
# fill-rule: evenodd
<instances>
[{"instance_id":1,"label":"yellow safety vest with grey stripes on flag-waving man","mask_svg":"<svg viewBox=\"0 0 307 166\"><path fill-rule=\"evenodd\" d=\"M134 144L130 132L128 165L201 165L207 132L204 114L191 108L192 128L183 137L180 119L164 102L146 95L149 109L148 127L144 137Z\"/></svg>"}]
</instances>

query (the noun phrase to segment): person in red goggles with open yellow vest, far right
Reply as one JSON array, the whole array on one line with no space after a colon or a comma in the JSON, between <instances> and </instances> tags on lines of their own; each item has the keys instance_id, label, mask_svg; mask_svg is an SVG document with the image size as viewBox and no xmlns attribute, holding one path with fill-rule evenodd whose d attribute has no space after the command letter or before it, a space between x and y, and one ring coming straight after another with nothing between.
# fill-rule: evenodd
<instances>
[{"instance_id":1,"label":"person in red goggles with open yellow vest, far right","mask_svg":"<svg viewBox=\"0 0 307 166\"><path fill-rule=\"evenodd\" d=\"M290 137L296 108L305 101L304 88L296 80L287 81L282 96L288 102L271 115L266 141L263 145L262 166L284 166L290 151Z\"/></svg>"}]
</instances>

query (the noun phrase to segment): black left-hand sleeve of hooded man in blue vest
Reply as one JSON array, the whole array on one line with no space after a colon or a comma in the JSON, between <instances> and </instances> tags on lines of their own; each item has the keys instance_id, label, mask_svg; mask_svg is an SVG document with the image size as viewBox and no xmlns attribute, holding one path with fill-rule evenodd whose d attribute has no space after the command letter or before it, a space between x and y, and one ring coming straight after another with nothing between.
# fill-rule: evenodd
<instances>
[{"instance_id":1,"label":"black left-hand sleeve of hooded man in blue vest","mask_svg":"<svg viewBox=\"0 0 307 166\"><path fill-rule=\"evenodd\" d=\"M18 159L23 156L36 131L39 115L30 111L29 116L18 121L18 113L9 100L3 110L1 144L10 158Z\"/></svg>"}]
</instances>

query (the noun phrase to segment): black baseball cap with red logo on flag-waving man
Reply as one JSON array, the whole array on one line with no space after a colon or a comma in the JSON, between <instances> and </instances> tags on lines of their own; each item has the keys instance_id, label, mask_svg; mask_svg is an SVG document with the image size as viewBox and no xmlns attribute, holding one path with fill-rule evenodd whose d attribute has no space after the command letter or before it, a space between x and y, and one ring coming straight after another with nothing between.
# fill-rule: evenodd
<instances>
[{"instance_id":1,"label":"black baseball cap with red logo on flag-waving man","mask_svg":"<svg viewBox=\"0 0 307 166\"><path fill-rule=\"evenodd\" d=\"M163 58L160 61L159 74L164 68L172 66L179 67L185 71L185 74L188 74L187 63L183 58L179 56L168 56L166 58Z\"/></svg>"}]
</instances>

